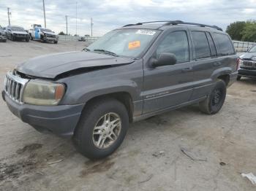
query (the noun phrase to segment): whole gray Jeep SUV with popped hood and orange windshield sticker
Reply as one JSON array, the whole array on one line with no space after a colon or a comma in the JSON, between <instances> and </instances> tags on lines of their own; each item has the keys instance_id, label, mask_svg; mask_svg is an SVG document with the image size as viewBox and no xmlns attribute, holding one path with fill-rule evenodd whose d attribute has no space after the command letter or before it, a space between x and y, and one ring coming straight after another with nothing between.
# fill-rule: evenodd
<instances>
[{"instance_id":1,"label":"whole gray Jeep SUV with popped hood and orange windshield sticker","mask_svg":"<svg viewBox=\"0 0 256 191\"><path fill-rule=\"evenodd\" d=\"M217 26L161 22L21 63L7 73L2 97L23 122L72 137L89 158L114 152L129 122L195 103L216 114L238 74L230 36Z\"/></svg>"}]
</instances>

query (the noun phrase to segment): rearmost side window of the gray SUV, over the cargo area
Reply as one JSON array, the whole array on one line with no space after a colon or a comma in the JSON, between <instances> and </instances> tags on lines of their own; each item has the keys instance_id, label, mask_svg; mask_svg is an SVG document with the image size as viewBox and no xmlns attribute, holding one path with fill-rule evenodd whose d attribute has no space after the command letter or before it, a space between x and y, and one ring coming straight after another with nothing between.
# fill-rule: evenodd
<instances>
[{"instance_id":1,"label":"rearmost side window of the gray SUV, over the cargo area","mask_svg":"<svg viewBox=\"0 0 256 191\"><path fill-rule=\"evenodd\" d=\"M233 44L226 34L214 33L214 42L217 44L218 55L233 55Z\"/></svg>"}]
</instances>

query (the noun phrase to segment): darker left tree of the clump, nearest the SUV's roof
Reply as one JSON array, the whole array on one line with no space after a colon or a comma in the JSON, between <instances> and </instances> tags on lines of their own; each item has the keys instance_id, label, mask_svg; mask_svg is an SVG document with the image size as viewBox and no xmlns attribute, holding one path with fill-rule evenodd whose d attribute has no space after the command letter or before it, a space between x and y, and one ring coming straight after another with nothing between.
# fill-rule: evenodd
<instances>
[{"instance_id":1,"label":"darker left tree of the clump, nearest the SUV's roof","mask_svg":"<svg viewBox=\"0 0 256 191\"><path fill-rule=\"evenodd\" d=\"M231 23L227 26L226 32L230 35L231 39L241 41L245 26L246 22L236 21L235 23Z\"/></svg>"}]
</instances>

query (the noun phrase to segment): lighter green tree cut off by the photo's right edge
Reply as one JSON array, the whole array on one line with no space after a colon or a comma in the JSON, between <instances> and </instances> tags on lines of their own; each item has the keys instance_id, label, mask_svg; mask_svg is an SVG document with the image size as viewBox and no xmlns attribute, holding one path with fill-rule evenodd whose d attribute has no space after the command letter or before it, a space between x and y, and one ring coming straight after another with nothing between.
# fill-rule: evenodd
<instances>
[{"instance_id":1,"label":"lighter green tree cut off by the photo's right edge","mask_svg":"<svg viewBox=\"0 0 256 191\"><path fill-rule=\"evenodd\" d=\"M242 34L242 41L256 42L256 21L247 21Z\"/></svg>"}]
</instances>

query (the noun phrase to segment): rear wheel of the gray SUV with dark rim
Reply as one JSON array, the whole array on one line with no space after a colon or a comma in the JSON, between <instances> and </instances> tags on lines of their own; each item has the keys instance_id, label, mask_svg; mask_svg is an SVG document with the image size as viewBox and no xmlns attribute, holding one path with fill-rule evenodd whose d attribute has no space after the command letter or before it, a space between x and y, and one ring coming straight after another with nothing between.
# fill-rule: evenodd
<instances>
[{"instance_id":1,"label":"rear wheel of the gray SUV with dark rim","mask_svg":"<svg viewBox=\"0 0 256 191\"><path fill-rule=\"evenodd\" d=\"M199 108L206 114L216 114L225 102L227 87L222 79L218 79L206 100L200 101Z\"/></svg>"}]
</instances>

